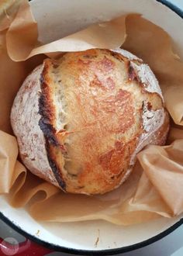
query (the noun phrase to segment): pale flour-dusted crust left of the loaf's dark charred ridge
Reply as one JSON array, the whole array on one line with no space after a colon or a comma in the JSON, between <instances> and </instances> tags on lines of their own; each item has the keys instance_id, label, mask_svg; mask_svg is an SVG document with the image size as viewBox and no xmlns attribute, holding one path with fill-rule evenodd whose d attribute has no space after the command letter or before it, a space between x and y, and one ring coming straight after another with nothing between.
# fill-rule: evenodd
<instances>
[{"instance_id":1,"label":"pale flour-dusted crust left of the loaf's dark charred ridge","mask_svg":"<svg viewBox=\"0 0 183 256\"><path fill-rule=\"evenodd\" d=\"M43 64L29 74L13 102L11 123L23 163L34 175L57 185L47 159L47 150L39 121L40 76ZM29 155L28 155L29 154Z\"/></svg>"}]
</instances>

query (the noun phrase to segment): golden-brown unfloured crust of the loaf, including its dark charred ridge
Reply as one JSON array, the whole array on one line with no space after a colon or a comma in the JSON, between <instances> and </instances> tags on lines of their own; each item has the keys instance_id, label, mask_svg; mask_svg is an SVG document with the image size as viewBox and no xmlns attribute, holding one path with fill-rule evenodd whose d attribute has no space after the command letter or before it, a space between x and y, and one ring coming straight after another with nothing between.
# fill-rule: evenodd
<instances>
[{"instance_id":1,"label":"golden-brown unfloured crust of the loaf, including its dark charred ridge","mask_svg":"<svg viewBox=\"0 0 183 256\"><path fill-rule=\"evenodd\" d=\"M61 106L53 99L52 73L64 90L67 129L55 124L55 108ZM161 95L148 92L146 86L129 59L110 50L87 50L45 61L40 128L62 189L95 194L120 184L143 133L143 103L149 111L163 109ZM162 133L150 143L161 143Z\"/></svg>"}]
</instances>

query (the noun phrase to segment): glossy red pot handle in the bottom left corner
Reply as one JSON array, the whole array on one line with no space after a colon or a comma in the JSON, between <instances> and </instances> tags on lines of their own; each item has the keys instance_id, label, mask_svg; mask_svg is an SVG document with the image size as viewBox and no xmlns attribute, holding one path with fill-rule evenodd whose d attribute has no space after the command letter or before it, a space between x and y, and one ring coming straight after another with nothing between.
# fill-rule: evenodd
<instances>
[{"instance_id":1,"label":"glossy red pot handle in the bottom left corner","mask_svg":"<svg viewBox=\"0 0 183 256\"><path fill-rule=\"evenodd\" d=\"M14 239L12 238L12 242L13 240ZM26 239L24 242L19 244L10 244L9 241L3 240L0 237L0 255L43 256L50 252L53 251L46 247L42 247L40 244L36 244L29 239Z\"/></svg>"}]
</instances>

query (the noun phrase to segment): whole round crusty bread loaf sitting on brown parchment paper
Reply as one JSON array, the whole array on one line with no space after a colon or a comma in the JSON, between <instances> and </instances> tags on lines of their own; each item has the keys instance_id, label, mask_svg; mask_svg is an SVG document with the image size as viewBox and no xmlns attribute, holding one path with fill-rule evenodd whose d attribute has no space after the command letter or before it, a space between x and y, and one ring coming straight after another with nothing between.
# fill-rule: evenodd
<instances>
[{"instance_id":1,"label":"whole round crusty bread loaf sitting on brown parchment paper","mask_svg":"<svg viewBox=\"0 0 183 256\"><path fill-rule=\"evenodd\" d=\"M137 152L164 144L169 128L150 67L121 49L46 59L19 89L11 122L29 171L88 195L116 189Z\"/></svg>"}]
</instances>

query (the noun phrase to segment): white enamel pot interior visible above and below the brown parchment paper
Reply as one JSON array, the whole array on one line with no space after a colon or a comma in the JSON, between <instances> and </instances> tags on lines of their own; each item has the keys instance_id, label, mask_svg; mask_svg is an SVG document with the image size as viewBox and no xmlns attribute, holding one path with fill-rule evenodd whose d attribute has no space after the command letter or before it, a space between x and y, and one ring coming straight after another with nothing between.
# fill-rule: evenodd
<instances>
[{"instance_id":1,"label":"white enamel pot interior visible above and below the brown parchment paper","mask_svg":"<svg viewBox=\"0 0 183 256\"><path fill-rule=\"evenodd\" d=\"M174 47L183 58L183 33L180 33L183 31L183 12L167 1L33 0L30 4L38 22L40 40L44 43L57 40L93 22L109 20L128 12L139 12L174 38ZM0 217L37 243L56 251L84 255L131 251L161 239L183 223L183 215L173 219L160 218L132 227L120 227L100 220L37 223L26 209L9 206L4 196L0 196ZM39 234L37 230L40 230ZM96 246L97 237L99 240Z\"/></svg>"}]
</instances>

